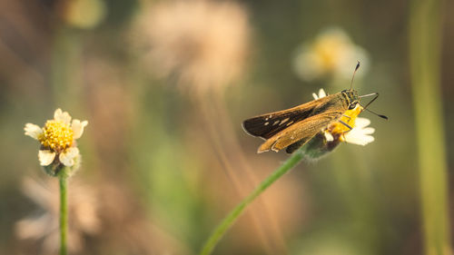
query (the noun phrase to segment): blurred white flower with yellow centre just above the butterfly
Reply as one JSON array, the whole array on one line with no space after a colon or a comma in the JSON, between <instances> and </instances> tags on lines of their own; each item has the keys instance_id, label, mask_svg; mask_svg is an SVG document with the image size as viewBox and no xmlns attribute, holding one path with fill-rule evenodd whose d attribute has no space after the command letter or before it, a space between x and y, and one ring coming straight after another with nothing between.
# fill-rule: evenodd
<instances>
[{"instance_id":1,"label":"blurred white flower with yellow centre just above the butterfly","mask_svg":"<svg viewBox=\"0 0 454 255\"><path fill-rule=\"evenodd\" d=\"M293 58L293 69L304 81L319 79L327 75L333 78L351 79L351 66L361 62L357 75L366 74L369 56L359 45L353 44L341 28L329 28L317 35L311 42L305 42L297 49Z\"/></svg>"}]
</instances>

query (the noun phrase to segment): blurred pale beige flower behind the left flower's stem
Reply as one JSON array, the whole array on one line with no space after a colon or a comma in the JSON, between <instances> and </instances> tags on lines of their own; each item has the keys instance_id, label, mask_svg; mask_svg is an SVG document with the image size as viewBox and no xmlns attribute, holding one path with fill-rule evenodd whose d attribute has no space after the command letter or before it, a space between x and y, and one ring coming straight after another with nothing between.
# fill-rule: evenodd
<instances>
[{"instance_id":1,"label":"blurred pale beige flower behind the left flower's stem","mask_svg":"<svg viewBox=\"0 0 454 255\"><path fill-rule=\"evenodd\" d=\"M84 234L95 234L100 230L101 221L97 215L94 191L74 181L70 185L68 249L75 252L83 249ZM23 181L23 191L43 212L17 221L16 236L22 240L42 241L42 254L56 254L60 240L58 182L50 180L38 183L27 178Z\"/></svg>"}]
</instances>

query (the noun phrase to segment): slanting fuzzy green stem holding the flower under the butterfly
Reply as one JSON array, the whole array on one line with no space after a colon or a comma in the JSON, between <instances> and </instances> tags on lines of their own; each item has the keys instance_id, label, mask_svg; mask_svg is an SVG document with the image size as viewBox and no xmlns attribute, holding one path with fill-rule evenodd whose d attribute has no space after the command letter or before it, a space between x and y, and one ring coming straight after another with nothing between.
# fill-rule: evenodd
<instances>
[{"instance_id":1,"label":"slanting fuzzy green stem holding the flower under the butterfly","mask_svg":"<svg viewBox=\"0 0 454 255\"><path fill-rule=\"evenodd\" d=\"M200 255L209 255L216 246L222 236L229 230L233 223L242 215L242 212L254 201L263 191L270 185L277 181L283 174L289 172L298 162L301 162L303 153L301 150L294 152L287 161L285 161L277 170L271 173L264 181L262 181L255 190L252 191L246 198L244 198L212 231L212 235L206 240L203 245Z\"/></svg>"}]
</instances>

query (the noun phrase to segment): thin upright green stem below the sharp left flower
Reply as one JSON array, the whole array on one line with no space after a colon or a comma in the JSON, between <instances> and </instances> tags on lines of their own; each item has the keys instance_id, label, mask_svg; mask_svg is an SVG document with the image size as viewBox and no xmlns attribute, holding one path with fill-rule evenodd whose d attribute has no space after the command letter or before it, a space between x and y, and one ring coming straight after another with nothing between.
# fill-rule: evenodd
<instances>
[{"instance_id":1,"label":"thin upright green stem below the sharp left flower","mask_svg":"<svg viewBox=\"0 0 454 255\"><path fill-rule=\"evenodd\" d=\"M60 255L66 255L66 236L68 232L67 178L59 174L60 181Z\"/></svg>"}]
</instances>

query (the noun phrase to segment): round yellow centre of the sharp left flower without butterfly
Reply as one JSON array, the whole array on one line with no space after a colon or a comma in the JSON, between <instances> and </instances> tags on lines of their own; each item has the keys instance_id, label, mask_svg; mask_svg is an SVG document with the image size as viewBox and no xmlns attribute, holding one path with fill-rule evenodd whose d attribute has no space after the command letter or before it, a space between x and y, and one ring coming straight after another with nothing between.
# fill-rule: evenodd
<instances>
[{"instance_id":1,"label":"round yellow centre of the sharp left flower without butterfly","mask_svg":"<svg viewBox=\"0 0 454 255\"><path fill-rule=\"evenodd\" d=\"M47 121L43 133L38 137L44 147L61 152L73 144L73 129L62 121Z\"/></svg>"}]
</instances>

